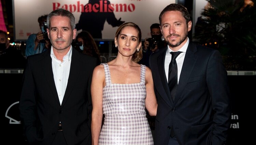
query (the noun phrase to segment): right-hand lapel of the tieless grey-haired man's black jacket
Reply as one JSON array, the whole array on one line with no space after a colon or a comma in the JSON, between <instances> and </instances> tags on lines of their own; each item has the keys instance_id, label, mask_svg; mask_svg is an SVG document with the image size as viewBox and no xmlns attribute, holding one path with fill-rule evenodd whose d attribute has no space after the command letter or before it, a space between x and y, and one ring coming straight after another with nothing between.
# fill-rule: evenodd
<instances>
[{"instance_id":1,"label":"right-hand lapel of the tieless grey-haired man's black jacket","mask_svg":"<svg viewBox=\"0 0 256 145\"><path fill-rule=\"evenodd\" d=\"M80 72L80 67L81 66L79 63L79 52L75 51L74 49L72 49L72 57L71 57L71 66L70 66L70 72L69 72L69 78L68 78L68 84L67 84L67 88L65 91L65 95L63 97L63 101L61 103L61 108L65 105L65 103L67 102L70 93L72 92L72 89L75 86L75 82L78 78L78 73Z\"/></svg>"}]
</instances>

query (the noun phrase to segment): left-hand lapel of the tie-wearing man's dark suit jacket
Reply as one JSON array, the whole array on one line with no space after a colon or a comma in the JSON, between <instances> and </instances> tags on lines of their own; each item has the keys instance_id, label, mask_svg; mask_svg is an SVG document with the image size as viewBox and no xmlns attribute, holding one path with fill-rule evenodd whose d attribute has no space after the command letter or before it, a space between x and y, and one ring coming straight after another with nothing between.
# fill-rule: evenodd
<instances>
[{"instance_id":1,"label":"left-hand lapel of the tie-wearing man's dark suit jacket","mask_svg":"<svg viewBox=\"0 0 256 145\"><path fill-rule=\"evenodd\" d=\"M156 72L159 72L159 74L157 74L158 78L155 79L156 81L154 83L155 83L158 93L161 95L162 99L165 100L167 102L167 104L172 106L173 102L171 100L171 97L169 97L169 96L171 96L171 93L169 90L169 86L168 86L168 82L167 82L166 74L165 74L166 51L167 51L167 47L165 50L162 50L162 52L160 52L160 54L157 58L156 68L158 71L156 71Z\"/></svg>"}]
</instances>

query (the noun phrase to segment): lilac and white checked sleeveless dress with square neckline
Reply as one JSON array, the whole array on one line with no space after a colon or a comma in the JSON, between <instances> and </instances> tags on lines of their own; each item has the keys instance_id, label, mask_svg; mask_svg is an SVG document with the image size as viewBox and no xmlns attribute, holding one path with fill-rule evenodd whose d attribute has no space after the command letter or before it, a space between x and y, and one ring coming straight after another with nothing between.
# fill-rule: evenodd
<instances>
[{"instance_id":1,"label":"lilac and white checked sleeveless dress with square neckline","mask_svg":"<svg viewBox=\"0 0 256 145\"><path fill-rule=\"evenodd\" d=\"M102 63L106 86L103 88L105 115L99 145L153 145L145 112L145 71L141 65L140 83L112 84L109 66Z\"/></svg>"}]
</instances>

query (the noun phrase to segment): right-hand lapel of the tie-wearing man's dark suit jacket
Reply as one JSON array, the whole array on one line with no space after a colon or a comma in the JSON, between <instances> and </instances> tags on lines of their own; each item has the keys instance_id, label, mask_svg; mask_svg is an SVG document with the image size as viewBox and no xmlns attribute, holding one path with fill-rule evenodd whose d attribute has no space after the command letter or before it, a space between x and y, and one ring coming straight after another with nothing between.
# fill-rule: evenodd
<instances>
[{"instance_id":1,"label":"right-hand lapel of the tie-wearing man's dark suit jacket","mask_svg":"<svg viewBox=\"0 0 256 145\"><path fill-rule=\"evenodd\" d=\"M185 59L183 62L181 75L179 79L179 85L177 87L175 99L174 99L174 105L179 101L183 90L186 87L188 78L190 77L191 71L193 70L195 63L197 61L198 56L194 53L197 51L196 45L191 43L191 41L188 44L188 48L186 51Z\"/></svg>"}]
</instances>

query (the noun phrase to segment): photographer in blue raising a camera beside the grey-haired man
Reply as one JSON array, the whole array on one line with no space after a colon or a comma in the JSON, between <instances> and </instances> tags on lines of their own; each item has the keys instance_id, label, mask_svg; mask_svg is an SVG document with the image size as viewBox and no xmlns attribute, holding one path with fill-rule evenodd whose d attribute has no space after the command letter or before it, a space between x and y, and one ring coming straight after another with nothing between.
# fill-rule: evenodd
<instances>
[{"instance_id":1,"label":"photographer in blue raising a camera beside the grey-haired man","mask_svg":"<svg viewBox=\"0 0 256 145\"><path fill-rule=\"evenodd\" d=\"M40 27L40 32L37 34L31 34L28 37L26 43L25 55L28 57L30 55L38 54L44 52L46 49L51 48L51 43L47 35L47 25L46 22L47 15L40 16L38 18L38 23Z\"/></svg>"}]
</instances>

